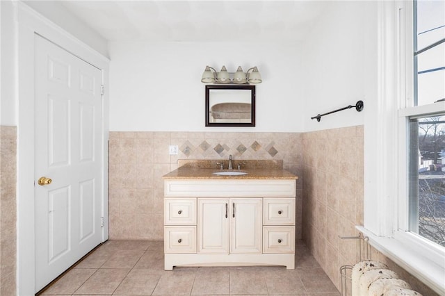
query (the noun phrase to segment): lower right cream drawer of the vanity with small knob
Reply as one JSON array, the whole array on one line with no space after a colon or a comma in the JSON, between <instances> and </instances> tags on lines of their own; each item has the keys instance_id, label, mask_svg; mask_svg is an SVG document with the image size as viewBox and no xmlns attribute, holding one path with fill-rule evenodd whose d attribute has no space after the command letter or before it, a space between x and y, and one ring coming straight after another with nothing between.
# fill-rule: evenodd
<instances>
[{"instance_id":1,"label":"lower right cream drawer of the vanity with small knob","mask_svg":"<svg viewBox=\"0 0 445 296\"><path fill-rule=\"evenodd\" d=\"M263 227L263 253L295 252L295 227Z\"/></svg>"}]
</instances>

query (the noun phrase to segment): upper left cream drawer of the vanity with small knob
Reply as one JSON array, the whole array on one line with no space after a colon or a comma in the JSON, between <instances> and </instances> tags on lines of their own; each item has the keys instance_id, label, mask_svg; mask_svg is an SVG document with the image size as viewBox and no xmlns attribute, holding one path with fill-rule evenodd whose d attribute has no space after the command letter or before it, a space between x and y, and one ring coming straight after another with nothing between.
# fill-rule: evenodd
<instances>
[{"instance_id":1,"label":"upper left cream drawer of the vanity with small knob","mask_svg":"<svg viewBox=\"0 0 445 296\"><path fill-rule=\"evenodd\" d=\"M165 225L196 225L195 198L166 198Z\"/></svg>"}]
</instances>

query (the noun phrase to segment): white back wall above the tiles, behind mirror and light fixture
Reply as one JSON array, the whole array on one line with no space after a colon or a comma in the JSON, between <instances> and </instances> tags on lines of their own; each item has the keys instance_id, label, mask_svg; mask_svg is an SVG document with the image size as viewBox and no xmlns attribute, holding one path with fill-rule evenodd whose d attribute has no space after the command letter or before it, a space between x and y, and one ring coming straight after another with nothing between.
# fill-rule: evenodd
<instances>
[{"instance_id":1,"label":"white back wall above the tiles, behind mirror and light fixture","mask_svg":"<svg viewBox=\"0 0 445 296\"><path fill-rule=\"evenodd\" d=\"M302 131L300 44L110 42L111 131ZM206 65L256 65L255 127L205 127Z\"/></svg>"}]
</instances>

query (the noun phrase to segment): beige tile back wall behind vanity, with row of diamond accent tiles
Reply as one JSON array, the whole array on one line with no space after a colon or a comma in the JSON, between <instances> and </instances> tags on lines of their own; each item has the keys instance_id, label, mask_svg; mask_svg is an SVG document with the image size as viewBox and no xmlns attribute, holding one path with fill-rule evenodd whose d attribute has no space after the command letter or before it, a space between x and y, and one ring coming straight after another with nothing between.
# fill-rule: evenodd
<instances>
[{"instance_id":1,"label":"beige tile back wall behind vanity, with row of diamond accent tiles","mask_svg":"<svg viewBox=\"0 0 445 296\"><path fill-rule=\"evenodd\" d=\"M111 239L163 239L163 179L178 159L282 159L301 174L300 133L111 132L109 141L109 222ZM170 156L169 145L179 154ZM217 166L216 166L217 167ZM301 213L297 181L296 213ZM301 238L297 215L296 237Z\"/></svg>"}]
</instances>

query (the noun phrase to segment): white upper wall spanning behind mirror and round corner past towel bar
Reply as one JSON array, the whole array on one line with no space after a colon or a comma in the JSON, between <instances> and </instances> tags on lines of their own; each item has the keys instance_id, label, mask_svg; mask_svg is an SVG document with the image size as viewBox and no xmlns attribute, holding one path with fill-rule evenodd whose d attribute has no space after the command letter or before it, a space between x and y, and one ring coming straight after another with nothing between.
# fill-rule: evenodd
<instances>
[{"instance_id":1,"label":"white upper wall spanning behind mirror and round corner past towel bar","mask_svg":"<svg viewBox=\"0 0 445 296\"><path fill-rule=\"evenodd\" d=\"M111 42L111 131L302 132L364 124L375 105L375 3L339 1L301 44ZM205 65L257 65L257 126L204 126ZM355 108L310 117L364 101Z\"/></svg>"}]
</instances>

